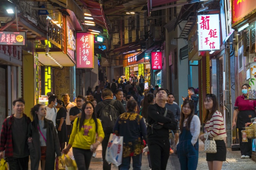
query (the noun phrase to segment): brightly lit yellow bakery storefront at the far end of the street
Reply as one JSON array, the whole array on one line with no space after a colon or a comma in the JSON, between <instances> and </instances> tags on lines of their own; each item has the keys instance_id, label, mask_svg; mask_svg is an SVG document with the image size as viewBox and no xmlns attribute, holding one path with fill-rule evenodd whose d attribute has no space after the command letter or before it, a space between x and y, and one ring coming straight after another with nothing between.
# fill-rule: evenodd
<instances>
[{"instance_id":1,"label":"brightly lit yellow bakery storefront at the far end of the street","mask_svg":"<svg viewBox=\"0 0 256 170\"><path fill-rule=\"evenodd\" d=\"M125 55L123 60L124 74L127 81L129 79L132 81L134 77L139 79L140 75L143 75L145 79L144 89L148 90L150 86L150 62L149 59L145 59L145 57L137 61L137 55L139 54L141 54L141 52Z\"/></svg>"}]
</instances>

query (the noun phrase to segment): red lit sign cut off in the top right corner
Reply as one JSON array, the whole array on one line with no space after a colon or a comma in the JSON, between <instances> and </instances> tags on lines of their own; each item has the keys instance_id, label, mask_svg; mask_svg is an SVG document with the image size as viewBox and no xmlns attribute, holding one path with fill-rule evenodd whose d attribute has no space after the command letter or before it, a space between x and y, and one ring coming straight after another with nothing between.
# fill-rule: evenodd
<instances>
[{"instance_id":1,"label":"red lit sign cut off in the top right corner","mask_svg":"<svg viewBox=\"0 0 256 170\"><path fill-rule=\"evenodd\" d=\"M237 25L244 17L256 9L255 0L233 0L232 1L232 24Z\"/></svg>"}]
</instances>

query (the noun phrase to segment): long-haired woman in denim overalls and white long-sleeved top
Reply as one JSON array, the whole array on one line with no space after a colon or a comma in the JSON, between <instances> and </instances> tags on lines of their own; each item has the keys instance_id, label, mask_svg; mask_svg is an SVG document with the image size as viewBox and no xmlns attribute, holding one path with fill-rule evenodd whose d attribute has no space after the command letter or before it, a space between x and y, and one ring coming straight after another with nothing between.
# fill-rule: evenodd
<instances>
[{"instance_id":1,"label":"long-haired woman in denim overalls and white long-sleeved top","mask_svg":"<svg viewBox=\"0 0 256 170\"><path fill-rule=\"evenodd\" d=\"M196 170L198 163L198 136L200 120L194 115L193 100L184 100L180 113L180 135L177 154L181 170Z\"/></svg>"}]
</instances>

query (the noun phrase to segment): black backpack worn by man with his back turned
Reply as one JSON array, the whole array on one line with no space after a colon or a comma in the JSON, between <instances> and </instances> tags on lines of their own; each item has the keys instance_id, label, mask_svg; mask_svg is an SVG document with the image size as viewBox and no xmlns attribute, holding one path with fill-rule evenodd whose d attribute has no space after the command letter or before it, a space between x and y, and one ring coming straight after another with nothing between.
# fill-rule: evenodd
<instances>
[{"instance_id":1,"label":"black backpack worn by man with his back turned","mask_svg":"<svg viewBox=\"0 0 256 170\"><path fill-rule=\"evenodd\" d=\"M118 111L113 106L116 100L112 100L109 104L105 104L100 110L99 119L103 127L104 133L113 133L113 127L115 126L116 120L118 118Z\"/></svg>"}]
</instances>

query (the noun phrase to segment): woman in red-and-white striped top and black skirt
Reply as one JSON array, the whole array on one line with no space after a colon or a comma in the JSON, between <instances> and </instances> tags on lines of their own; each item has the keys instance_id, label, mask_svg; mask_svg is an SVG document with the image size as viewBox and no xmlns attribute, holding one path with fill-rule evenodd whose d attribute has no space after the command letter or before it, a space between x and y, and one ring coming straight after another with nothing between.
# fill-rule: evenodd
<instances>
[{"instance_id":1,"label":"woman in red-and-white striped top and black skirt","mask_svg":"<svg viewBox=\"0 0 256 170\"><path fill-rule=\"evenodd\" d=\"M207 133L200 135L199 139L203 142L207 135L216 142L217 153L206 153L206 160L210 170L221 170L223 161L226 161L226 144L224 138L227 137L224 127L224 119L219 110L219 103L216 95L207 94L204 100L206 116L204 119L205 129Z\"/></svg>"}]
</instances>

